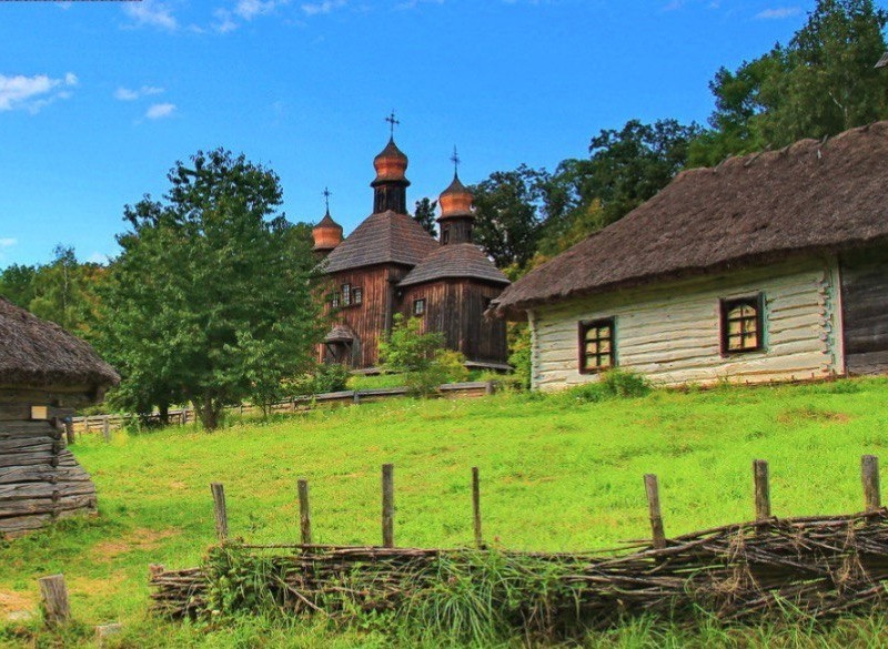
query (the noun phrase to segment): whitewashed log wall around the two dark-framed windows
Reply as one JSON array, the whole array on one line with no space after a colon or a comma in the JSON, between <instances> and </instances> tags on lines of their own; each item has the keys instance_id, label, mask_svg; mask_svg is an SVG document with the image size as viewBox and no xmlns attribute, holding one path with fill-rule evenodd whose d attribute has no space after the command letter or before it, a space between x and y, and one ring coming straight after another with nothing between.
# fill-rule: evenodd
<instances>
[{"instance_id":1,"label":"whitewashed log wall around the two dark-framed windows","mask_svg":"<svg viewBox=\"0 0 888 649\"><path fill-rule=\"evenodd\" d=\"M598 381L579 374L578 323L605 317L616 318L619 367L657 385L841 373L837 268L834 258L796 260L539 307L529 314L533 385L554 391ZM756 293L765 295L765 349L723 356L719 301Z\"/></svg>"}]
</instances>

